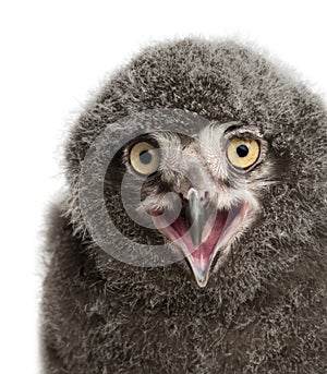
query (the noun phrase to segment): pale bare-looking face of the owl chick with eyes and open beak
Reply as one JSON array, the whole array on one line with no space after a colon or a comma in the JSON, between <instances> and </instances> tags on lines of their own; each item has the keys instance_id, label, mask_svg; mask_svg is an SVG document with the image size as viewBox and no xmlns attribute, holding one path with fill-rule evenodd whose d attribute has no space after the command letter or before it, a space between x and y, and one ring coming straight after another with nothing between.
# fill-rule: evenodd
<instances>
[{"instance_id":1,"label":"pale bare-looking face of the owl chick with eyes and open beak","mask_svg":"<svg viewBox=\"0 0 327 374\"><path fill-rule=\"evenodd\" d=\"M123 148L122 162L142 185L136 210L183 254L199 287L258 217L274 167L258 128L237 122L210 123L194 136L142 135Z\"/></svg>"}]
</instances>

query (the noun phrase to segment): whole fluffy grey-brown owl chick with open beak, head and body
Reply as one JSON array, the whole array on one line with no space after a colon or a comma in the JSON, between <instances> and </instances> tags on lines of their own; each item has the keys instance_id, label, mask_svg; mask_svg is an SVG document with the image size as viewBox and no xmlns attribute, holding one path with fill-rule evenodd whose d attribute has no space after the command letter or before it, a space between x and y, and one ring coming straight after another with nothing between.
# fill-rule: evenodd
<instances>
[{"instance_id":1,"label":"whole fluffy grey-brown owl chick with open beak, head and body","mask_svg":"<svg viewBox=\"0 0 327 374\"><path fill-rule=\"evenodd\" d=\"M326 373L327 116L233 41L145 49L72 129L47 374Z\"/></svg>"}]
</instances>

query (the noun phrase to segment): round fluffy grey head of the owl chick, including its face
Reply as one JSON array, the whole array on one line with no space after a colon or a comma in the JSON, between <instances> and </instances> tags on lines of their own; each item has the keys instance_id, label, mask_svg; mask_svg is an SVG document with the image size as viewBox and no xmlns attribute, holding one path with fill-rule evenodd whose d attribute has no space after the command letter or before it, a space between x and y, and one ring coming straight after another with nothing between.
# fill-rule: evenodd
<instances>
[{"instance_id":1,"label":"round fluffy grey head of the owl chick, including its face","mask_svg":"<svg viewBox=\"0 0 327 374\"><path fill-rule=\"evenodd\" d=\"M76 122L65 214L102 269L258 285L323 253L325 146L324 105L284 68L231 41L160 44Z\"/></svg>"}]
</instances>

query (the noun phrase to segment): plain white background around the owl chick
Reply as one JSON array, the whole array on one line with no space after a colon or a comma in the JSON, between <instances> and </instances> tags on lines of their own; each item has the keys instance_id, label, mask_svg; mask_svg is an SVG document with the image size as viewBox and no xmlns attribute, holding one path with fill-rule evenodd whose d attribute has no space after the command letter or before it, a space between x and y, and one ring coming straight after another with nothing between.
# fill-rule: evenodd
<instances>
[{"instance_id":1,"label":"plain white background around the owl chick","mask_svg":"<svg viewBox=\"0 0 327 374\"><path fill-rule=\"evenodd\" d=\"M37 373L43 214L89 89L149 41L227 35L268 49L325 95L326 10L324 0L1 2L0 373Z\"/></svg>"}]
</instances>

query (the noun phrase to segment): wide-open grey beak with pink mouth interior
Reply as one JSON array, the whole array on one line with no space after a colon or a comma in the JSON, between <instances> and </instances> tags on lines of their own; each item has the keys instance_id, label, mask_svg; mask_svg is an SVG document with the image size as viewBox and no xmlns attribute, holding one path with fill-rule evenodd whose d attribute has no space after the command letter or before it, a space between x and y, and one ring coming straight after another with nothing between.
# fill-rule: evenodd
<instances>
[{"instance_id":1,"label":"wide-open grey beak with pink mouth interior","mask_svg":"<svg viewBox=\"0 0 327 374\"><path fill-rule=\"evenodd\" d=\"M203 202L195 189L190 189L179 217L169 222L169 214L153 216L158 230L180 248L199 287L205 287L214 260L234 237L247 209L241 203L231 209L217 209Z\"/></svg>"}]
</instances>

